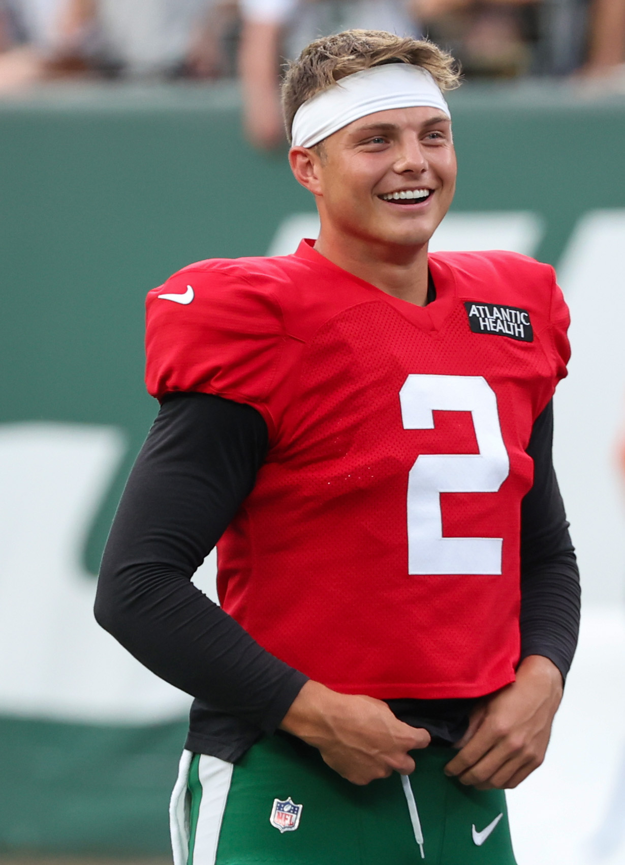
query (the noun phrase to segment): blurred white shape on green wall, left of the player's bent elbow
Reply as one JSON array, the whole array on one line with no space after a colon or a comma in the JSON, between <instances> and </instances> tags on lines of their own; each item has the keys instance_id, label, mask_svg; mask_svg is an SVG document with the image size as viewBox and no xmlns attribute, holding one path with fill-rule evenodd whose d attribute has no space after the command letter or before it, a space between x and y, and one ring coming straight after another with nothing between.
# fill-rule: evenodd
<instances>
[{"instance_id":1,"label":"blurred white shape on green wall, left of the player's bent elbow","mask_svg":"<svg viewBox=\"0 0 625 865\"><path fill-rule=\"evenodd\" d=\"M85 536L124 449L111 427L0 426L0 711L64 721L154 722L189 698L93 618ZM8 663L7 663L8 661Z\"/></svg>"}]
</instances>

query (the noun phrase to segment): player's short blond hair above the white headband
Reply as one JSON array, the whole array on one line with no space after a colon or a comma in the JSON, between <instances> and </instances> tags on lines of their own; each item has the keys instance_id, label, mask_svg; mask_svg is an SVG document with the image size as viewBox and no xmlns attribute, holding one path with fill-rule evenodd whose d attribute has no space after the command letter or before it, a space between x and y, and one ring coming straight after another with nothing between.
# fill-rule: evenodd
<instances>
[{"instance_id":1,"label":"player's short blond hair above the white headband","mask_svg":"<svg viewBox=\"0 0 625 865\"><path fill-rule=\"evenodd\" d=\"M408 63L426 69L440 89L460 83L458 66L451 54L426 39L396 36L384 30L344 30L315 39L295 61L289 61L282 81L281 98L287 138L300 105L338 80L383 63Z\"/></svg>"}]
</instances>

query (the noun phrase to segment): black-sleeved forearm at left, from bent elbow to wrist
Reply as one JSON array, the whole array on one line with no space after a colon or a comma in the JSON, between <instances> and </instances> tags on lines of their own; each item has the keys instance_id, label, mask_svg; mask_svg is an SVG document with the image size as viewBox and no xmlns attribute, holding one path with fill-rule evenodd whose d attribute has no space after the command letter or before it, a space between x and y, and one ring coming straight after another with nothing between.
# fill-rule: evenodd
<instances>
[{"instance_id":1,"label":"black-sleeved forearm at left, from bent elbow to wrist","mask_svg":"<svg viewBox=\"0 0 625 865\"><path fill-rule=\"evenodd\" d=\"M100 576L98 623L157 676L271 733L306 682L181 574L159 565Z\"/></svg>"}]
</instances>

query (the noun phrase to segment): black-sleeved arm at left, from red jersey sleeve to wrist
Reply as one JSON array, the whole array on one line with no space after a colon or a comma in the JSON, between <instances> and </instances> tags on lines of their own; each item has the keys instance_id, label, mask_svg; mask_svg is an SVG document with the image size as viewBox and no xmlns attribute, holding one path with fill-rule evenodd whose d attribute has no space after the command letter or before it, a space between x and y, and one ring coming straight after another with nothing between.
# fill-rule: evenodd
<instances>
[{"instance_id":1,"label":"black-sleeved arm at left, from red jersey sleeve to wrist","mask_svg":"<svg viewBox=\"0 0 625 865\"><path fill-rule=\"evenodd\" d=\"M217 397L161 408L110 531L95 612L157 676L271 732L306 676L191 582L254 484L266 435L254 409Z\"/></svg>"}]
</instances>

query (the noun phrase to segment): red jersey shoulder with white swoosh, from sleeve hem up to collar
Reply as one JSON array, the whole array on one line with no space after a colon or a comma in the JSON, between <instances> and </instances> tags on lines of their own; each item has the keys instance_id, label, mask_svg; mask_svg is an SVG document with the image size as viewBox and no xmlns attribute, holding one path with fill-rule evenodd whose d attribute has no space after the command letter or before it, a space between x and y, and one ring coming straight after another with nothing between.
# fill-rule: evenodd
<instances>
[{"instance_id":1,"label":"red jersey shoulder with white swoosh, from sleeve hem up to collar","mask_svg":"<svg viewBox=\"0 0 625 865\"><path fill-rule=\"evenodd\" d=\"M275 434L302 346L319 324L362 301L367 286L310 252L312 260L206 259L148 292L148 393L196 391L247 403Z\"/></svg>"}]
</instances>

